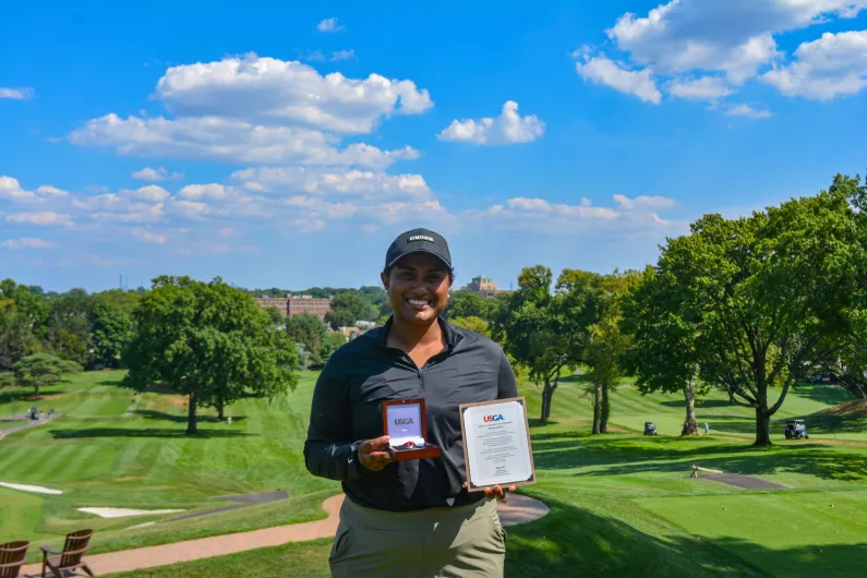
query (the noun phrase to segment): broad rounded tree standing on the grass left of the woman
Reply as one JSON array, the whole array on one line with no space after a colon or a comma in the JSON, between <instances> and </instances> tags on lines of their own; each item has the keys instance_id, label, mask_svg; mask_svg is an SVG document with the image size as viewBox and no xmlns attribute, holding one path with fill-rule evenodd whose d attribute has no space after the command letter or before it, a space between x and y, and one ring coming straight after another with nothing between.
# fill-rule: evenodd
<instances>
[{"instance_id":1,"label":"broad rounded tree standing on the grass left of the woman","mask_svg":"<svg viewBox=\"0 0 867 578\"><path fill-rule=\"evenodd\" d=\"M219 278L157 277L133 324L123 384L145 390L164 382L189 396L189 435L197 432L198 407L217 407L221 417L248 390L272 396L294 388L291 341L252 297Z\"/></svg>"}]
</instances>

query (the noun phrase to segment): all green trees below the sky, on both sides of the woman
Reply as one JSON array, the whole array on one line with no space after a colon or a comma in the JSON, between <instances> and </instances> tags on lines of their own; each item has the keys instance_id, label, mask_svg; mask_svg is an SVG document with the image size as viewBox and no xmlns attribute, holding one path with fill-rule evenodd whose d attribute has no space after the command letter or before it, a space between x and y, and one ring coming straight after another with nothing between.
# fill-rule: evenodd
<instances>
[{"instance_id":1,"label":"all green trees below the sky, on both sides of the woman","mask_svg":"<svg viewBox=\"0 0 867 578\"><path fill-rule=\"evenodd\" d=\"M867 398L865 209L867 185L839 174L827 191L750 216L705 215L689 233L666 239L645 269L564 269L555 279L534 265L521 272L515 292L482 299L455 291L445 316L496 339L518 378L542 387L542 422L564 375L581 371L594 434L605 433L611 395L633 376L643 393L683 393L685 435L697 433L695 402L712 387L752 409L756 444L770 444L771 418L812 372ZM0 385L74 371L47 366L46 356L85 369L125 366L124 384L134 389L166 384L188 395L194 433L196 408L215 407L222 417L240 397L292 388L293 370L324 363L345 340L315 316L269 314L251 293L219 278L164 276L147 291L92 296L46 294L7 279ZM326 321L384 322L384 291L364 294L383 299L378 310L361 292L342 291L332 313L346 318Z\"/></svg>"}]
</instances>

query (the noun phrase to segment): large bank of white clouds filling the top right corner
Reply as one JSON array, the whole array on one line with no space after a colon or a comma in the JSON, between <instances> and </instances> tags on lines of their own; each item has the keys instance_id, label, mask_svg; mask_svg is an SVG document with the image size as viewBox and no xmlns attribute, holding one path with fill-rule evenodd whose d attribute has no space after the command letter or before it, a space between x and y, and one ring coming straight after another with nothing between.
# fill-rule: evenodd
<instances>
[{"instance_id":1,"label":"large bank of white clouds filling the top right corner","mask_svg":"<svg viewBox=\"0 0 867 578\"><path fill-rule=\"evenodd\" d=\"M792 96L855 94L867 86L865 59L857 56L860 40L852 36L859 33L827 33L822 40L802 45L798 61L784 68L775 37L853 19L865 9L867 0L670 0L643 16L627 12L605 31L628 67L605 59L587 69L593 59L579 64L579 72L583 67L585 77L626 93L637 94L641 86L650 101L659 101L651 75L670 77L672 96L711 103L759 76ZM815 58L818 53L827 58ZM650 73L639 79L628 69Z\"/></svg>"}]
</instances>

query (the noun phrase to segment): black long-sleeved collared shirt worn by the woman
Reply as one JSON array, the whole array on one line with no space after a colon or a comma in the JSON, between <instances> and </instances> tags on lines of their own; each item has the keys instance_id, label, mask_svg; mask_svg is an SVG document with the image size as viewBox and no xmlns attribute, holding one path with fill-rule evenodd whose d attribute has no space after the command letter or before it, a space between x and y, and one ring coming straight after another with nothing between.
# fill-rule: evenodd
<instances>
[{"instance_id":1,"label":"black long-sleeved collared shirt worn by the woman","mask_svg":"<svg viewBox=\"0 0 867 578\"><path fill-rule=\"evenodd\" d=\"M457 506L484 497L469 494L458 406L518 395L501 347L439 320L446 348L419 369L407 353L386 346L392 320L338 349L313 393L304 460L314 475L339 480L362 506L407 511ZM397 461L378 472L358 460L362 442L384 435L382 402L424 398L428 441L443 455Z\"/></svg>"}]
</instances>

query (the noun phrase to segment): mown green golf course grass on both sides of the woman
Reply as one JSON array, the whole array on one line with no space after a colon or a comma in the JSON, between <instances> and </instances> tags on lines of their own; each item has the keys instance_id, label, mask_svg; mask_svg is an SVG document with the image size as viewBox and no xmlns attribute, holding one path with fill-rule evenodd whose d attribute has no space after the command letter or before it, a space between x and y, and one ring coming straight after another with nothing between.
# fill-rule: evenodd
<instances>
[{"instance_id":1,"label":"mown green golf course grass on both sides of the woman","mask_svg":"<svg viewBox=\"0 0 867 578\"><path fill-rule=\"evenodd\" d=\"M539 484L523 492L544 499L551 513L509 529L509 576L842 577L864 567L867 413L844 390L798 386L772 425L775 445L752 448L749 411L719 394L698 407L710 435L682 439L683 399L641 396L628 385L612 398L613 432L590 436L581 380L557 390L549 424L532 420ZM0 480L65 492L0 489L0 541L55 538L87 523L99 530L97 552L120 550L311 519L323 515L322 499L339 491L306 474L301 459L313 373L294 394L233 406L234 423L206 421L192 439L183 436L182 398L147 394L135 405L115 381L87 374L64 384L55 398L63 418L0 441ZM538 414L539 389L522 393ZM32 405L0 398L0 416L12 413L13 404L15 412ZM809 441L783 438L788 417L807 418ZM645 421L654 421L660 436L642 436ZM689 479L693 463L786 489ZM91 505L207 509L225 504L215 495L277 489L293 497L135 530L123 528L148 518L99 520L75 511ZM287 544L135 575L264 577L291 568L293 576L327 576L328 549L327 540Z\"/></svg>"}]
</instances>

